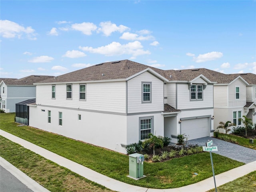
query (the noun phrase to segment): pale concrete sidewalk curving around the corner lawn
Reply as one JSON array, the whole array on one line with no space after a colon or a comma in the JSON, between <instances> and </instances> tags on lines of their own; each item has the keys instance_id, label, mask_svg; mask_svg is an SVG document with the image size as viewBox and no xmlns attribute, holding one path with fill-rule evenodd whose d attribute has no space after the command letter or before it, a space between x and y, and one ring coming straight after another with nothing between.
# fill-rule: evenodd
<instances>
[{"instance_id":1,"label":"pale concrete sidewalk curving around the corner lawn","mask_svg":"<svg viewBox=\"0 0 256 192\"><path fill-rule=\"evenodd\" d=\"M188 192L188 191L189 192L206 192L206 191L214 188L213 177L208 178L203 181L200 181L195 184L183 186L180 188L174 188L174 189L152 189L152 188L143 188L143 187L133 186L130 184L126 184L124 182L120 182L118 180L114 180L112 178L104 176L104 175L102 175L98 172L95 172L93 170L90 170L89 168L86 168L76 162L68 160L62 156L59 156L59 155L57 155L53 152L50 152L42 147L39 147L39 146L32 144L26 140L23 140L19 137L12 135L12 134L9 134L8 132L5 132L3 130L0 130L0 135L11 140L12 142L20 144L24 148L27 148L27 149L43 156L44 158L46 158L48 160L51 160L52 162L55 162L56 164L59 164L60 166L68 168L72 172L75 172L75 173L87 178L88 180L94 181L98 184L101 184L102 186L106 186L106 188L109 188L111 190L118 191L118 192ZM215 176L216 186L223 185L227 182L235 180L236 178L244 176L244 175L246 175L252 171L255 171L255 170L256 170L256 161L245 164L238 168L234 168L234 169L224 172L222 174L218 174Z\"/></svg>"}]
</instances>

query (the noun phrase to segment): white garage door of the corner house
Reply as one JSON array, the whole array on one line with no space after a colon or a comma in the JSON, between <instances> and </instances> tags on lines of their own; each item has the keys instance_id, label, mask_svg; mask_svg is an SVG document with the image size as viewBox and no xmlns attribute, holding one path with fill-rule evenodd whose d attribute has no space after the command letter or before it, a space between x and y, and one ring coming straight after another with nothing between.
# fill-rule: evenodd
<instances>
[{"instance_id":1,"label":"white garage door of the corner house","mask_svg":"<svg viewBox=\"0 0 256 192\"><path fill-rule=\"evenodd\" d=\"M210 136L210 118L182 120L181 134L188 136L188 140Z\"/></svg>"}]
</instances>

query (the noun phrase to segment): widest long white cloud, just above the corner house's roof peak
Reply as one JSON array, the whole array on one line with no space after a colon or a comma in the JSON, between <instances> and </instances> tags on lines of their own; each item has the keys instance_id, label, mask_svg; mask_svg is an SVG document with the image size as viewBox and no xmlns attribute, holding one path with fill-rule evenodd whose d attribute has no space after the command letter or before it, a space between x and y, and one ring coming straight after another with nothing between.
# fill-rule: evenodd
<instances>
[{"instance_id":1,"label":"widest long white cloud, just above the corner house's roof peak","mask_svg":"<svg viewBox=\"0 0 256 192\"><path fill-rule=\"evenodd\" d=\"M106 46L101 46L98 48L92 47L79 47L84 51L88 51L90 53L98 53L105 56L116 56L116 55L123 55L128 54L132 55L133 57L144 55L144 54L151 54L148 50L143 50L143 46L139 41L129 42L128 44L120 44L119 42L112 42Z\"/></svg>"}]
</instances>

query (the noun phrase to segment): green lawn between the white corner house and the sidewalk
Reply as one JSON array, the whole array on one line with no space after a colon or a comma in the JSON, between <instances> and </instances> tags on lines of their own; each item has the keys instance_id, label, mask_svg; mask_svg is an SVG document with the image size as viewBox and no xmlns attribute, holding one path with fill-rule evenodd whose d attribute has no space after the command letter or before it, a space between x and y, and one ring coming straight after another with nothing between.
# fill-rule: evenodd
<instances>
[{"instance_id":1,"label":"green lawn between the white corner house and the sidewalk","mask_svg":"<svg viewBox=\"0 0 256 192\"><path fill-rule=\"evenodd\" d=\"M166 162L144 162L144 175L147 177L133 180L127 177L129 174L127 155L36 128L17 126L13 122L13 117L14 114L0 114L0 128L101 174L128 184L148 188L177 188L212 176L210 155L204 152L174 158ZM215 174L220 174L244 164L218 154L212 154L212 156ZM195 172L198 173L197 176L194 175Z\"/></svg>"}]
</instances>

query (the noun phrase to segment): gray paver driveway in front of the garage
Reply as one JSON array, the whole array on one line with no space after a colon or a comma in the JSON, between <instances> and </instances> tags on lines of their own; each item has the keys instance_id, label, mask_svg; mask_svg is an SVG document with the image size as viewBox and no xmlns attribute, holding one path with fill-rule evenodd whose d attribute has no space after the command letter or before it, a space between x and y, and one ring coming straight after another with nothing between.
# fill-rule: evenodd
<instances>
[{"instance_id":1,"label":"gray paver driveway in front of the garage","mask_svg":"<svg viewBox=\"0 0 256 192\"><path fill-rule=\"evenodd\" d=\"M203 137L198 139L188 140L187 144L197 144L199 146L206 146L206 142L212 140L212 146L218 146L218 151L213 153L234 159L236 161L250 163L256 161L256 150L243 147L234 143L226 142L213 137Z\"/></svg>"}]
</instances>

